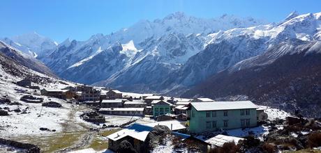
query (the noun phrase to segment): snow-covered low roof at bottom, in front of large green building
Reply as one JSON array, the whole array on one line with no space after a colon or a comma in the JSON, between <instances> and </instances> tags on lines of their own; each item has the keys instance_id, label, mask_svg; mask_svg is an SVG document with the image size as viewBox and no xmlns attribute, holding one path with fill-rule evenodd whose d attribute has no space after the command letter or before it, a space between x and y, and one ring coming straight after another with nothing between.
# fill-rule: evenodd
<instances>
[{"instance_id":1,"label":"snow-covered low roof at bottom, in front of large green building","mask_svg":"<svg viewBox=\"0 0 321 153\"><path fill-rule=\"evenodd\" d=\"M217 136L214 136L213 138L209 138L208 140L205 140L205 142L211 143L212 146L223 147L224 143L230 143L233 141L237 145L239 140L244 140L244 138L238 138L234 136L224 136L219 134Z\"/></svg>"}]
</instances>

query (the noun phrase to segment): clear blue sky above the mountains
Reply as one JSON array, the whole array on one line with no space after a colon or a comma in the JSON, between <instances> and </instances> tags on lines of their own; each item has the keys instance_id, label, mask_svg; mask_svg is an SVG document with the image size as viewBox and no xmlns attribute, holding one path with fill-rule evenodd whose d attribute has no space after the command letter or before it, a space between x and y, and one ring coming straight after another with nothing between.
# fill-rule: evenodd
<instances>
[{"instance_id":1,"label":"clear blue sky above the mountains","mask_svg":"<svg viewBox=\"0 0 321 153\"><path fill-rule=\"evenodd\" d=\"M0 38L35 31L57 42L87 40L177 11L195 17L227 13L279 22L293 10L317 13L320 6L320 0L1 0Z\"/></svg>"}]
</instances>

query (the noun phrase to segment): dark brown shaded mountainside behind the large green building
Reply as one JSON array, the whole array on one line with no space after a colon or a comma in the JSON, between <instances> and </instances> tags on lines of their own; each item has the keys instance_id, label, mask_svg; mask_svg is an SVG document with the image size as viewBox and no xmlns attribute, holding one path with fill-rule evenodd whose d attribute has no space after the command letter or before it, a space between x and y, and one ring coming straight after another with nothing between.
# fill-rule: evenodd
<instances>
[{"instance_id":1,"label":"dark brown shaded mountainside behind the large green building","mask_svg":"<svg viewBox=\"0 0 321 153\"><path fill-rule=\"evenodd\" d=\"M320 41L288 40L214 74L183 96L245 97L256 104L288 112L298 109L308 117L320 118L320 59Z\"/></svg>"}]
</instances>

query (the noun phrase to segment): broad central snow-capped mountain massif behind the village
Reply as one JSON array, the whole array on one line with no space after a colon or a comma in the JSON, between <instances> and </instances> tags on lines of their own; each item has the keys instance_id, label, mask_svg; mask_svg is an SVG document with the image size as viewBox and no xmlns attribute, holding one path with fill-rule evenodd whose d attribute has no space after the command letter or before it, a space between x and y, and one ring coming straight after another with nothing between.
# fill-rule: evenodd
<instances>
[{"instance_id":1,"label":"broad central snow-capped mountain massif behind the village","mask_svg":"<svg viewBox=\"0 0 321 153\"><path fill-rule=\"evenodd\" d=\"M114 81L125 81L129 77L139 83L145 77L155 78L152 76L155 73L147 73L147 76L145 72L139 74L142 77L137 77L137 67L142 67L145 61L150 63L149 70L164 70L162 76L165 77L204 48L208 33L263 23L251 17L223 15L214 19L201 19L174 13L153 22L137 22L110 35L93 35L87 41L66 40L41 60L60 77L71 81L102 81L100 85L110 86L116 84ZM115 51L111 49L115 45L121 47ZM119 83L119 86L122 85Z\"/></svg>"}]
</instances>

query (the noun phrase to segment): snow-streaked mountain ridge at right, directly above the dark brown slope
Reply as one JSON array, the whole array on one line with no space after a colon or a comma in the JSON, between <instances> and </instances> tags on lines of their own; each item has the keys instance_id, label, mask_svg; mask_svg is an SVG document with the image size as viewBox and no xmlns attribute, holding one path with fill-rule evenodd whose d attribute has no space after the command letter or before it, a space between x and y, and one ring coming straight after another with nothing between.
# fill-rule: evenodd
<instances>
[{"instance_id":1,"label":"snow-streaked mountain ridge at right, directly above the dark brown slope","mask_svg":"<svg viewBox=\"0 0 321 153\"><path fill-rule=\"evenodd\" d=\"M227 67L232 67L246 58L255 58L267 49L281 42L298 39L303 41L321 40L321 13L289 15L276 26L260 25L241 29L219 31L207 36L207 46L192 56L172 77L164 81L167 87L182 90L203 81ZM290 19L292 17L292 19ZM283 46L287 49L288 45ZM253 65L252 61L235 65L234 70ZM237 67L237 68L235 68ZM164 84L164 83L163 83Z\"/></svg>"}]
</instances>

